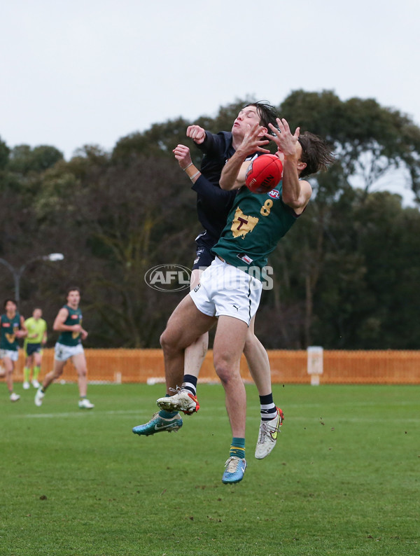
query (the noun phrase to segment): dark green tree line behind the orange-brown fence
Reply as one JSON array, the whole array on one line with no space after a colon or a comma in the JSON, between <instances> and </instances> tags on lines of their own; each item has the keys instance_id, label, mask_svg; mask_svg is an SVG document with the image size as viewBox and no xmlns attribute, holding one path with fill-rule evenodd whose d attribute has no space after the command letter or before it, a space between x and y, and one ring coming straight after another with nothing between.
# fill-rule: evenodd
<instances>
[{"instance_id":1,"label":"dark green tree line behind the orange-brown fence","mask_svg":"<svg viewBox=\"0 0 420 556\"><path fill-rule=\"evenodd\" d=\"M111 152L84 146L69 161L53 146L10 148L0 139L0 258L26 265L20 312L40 306L52 323L76 285L87 347L158 347L185 292L151 289L144 275L162 263L191 267L201 231L172 149L187 144L200 165L186 127L230 130L253 100L237 99L213 118L156 123ZM267 349L416 349L419 209L374 186L396 170L420 202L420 128L374 99L344 102L332 91L297 90L276 107L293 129L327 139L335 164L309 179L313 198L269 259L274 287L262 294L257 334ZM54 252L64 260L41 260ZM0 265L0 300L13 288Z\"/></svg>"}]
</instances>

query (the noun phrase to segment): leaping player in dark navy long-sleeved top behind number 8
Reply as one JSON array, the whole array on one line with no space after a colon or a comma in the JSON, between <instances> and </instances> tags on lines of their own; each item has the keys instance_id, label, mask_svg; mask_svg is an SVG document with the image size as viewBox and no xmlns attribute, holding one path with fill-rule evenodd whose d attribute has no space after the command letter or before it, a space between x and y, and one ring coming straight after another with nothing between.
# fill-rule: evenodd
<instances>
[{"instance_id":1,"label":"leaping player in dark navy long-sleeved top behind number 8","mask_svg":"<svg viewBox=\"0 0 420 556\"><path fill-rule=\"evenodd\" d=\"M200 274L214 260L215 255L211 253L211 248L221 236L237 195L235 190L223 191L218 185L222 169L226 160L235 153L244 140L248 131L247 126L253 123L262 126L260 135L264 142L268 143L264 136L268 132L268 124L276 124L274 106L267 102L256 102L244 106L235 118L231 132L219 132L215 135L198 125L189 126L187 137L193 139L204 153L201 171L197 170L193 164L190 149L187 146L179 144L173 151L181 169L186 172L194 184L193 189L197 192L197 212L204 227L204 232L196 238L197 258L194 260L190 289L197 286L200 282ZM248 160L251 161L252 158L253 156L250 155ZM255 457L262 459L276 445L283 412L274 403L269 359L266 350L255 335L254 321L255 317L248 326L244 355L260 398L260 432L255 447ZM179 429L183 424L179 411L188 414L197 411L200 407L196 396L197 379L206 356L208 343L209 334L206 333L193 345L188 346L184 356L184 377L181 387L175 393L167 391L167 396L158 399L160 412L153 415L148 423L135 426L132 429L134 433L148 436L169 429Z\"/></svg>"}]
</instances>

